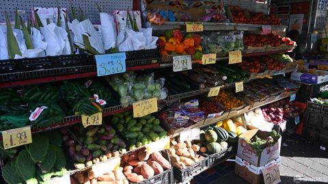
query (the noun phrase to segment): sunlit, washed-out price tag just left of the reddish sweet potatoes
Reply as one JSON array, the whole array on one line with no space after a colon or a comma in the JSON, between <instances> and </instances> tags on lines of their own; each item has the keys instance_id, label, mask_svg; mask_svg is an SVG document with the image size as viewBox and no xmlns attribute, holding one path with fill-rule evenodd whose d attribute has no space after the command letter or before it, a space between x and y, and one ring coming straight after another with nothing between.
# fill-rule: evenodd
<instances>
[{"instance_id":1,"label":"sunlit, washed-out price tag just left of the reddish sweet potatoes","mask_svg":"<svg viewBox=\"0 0 328 184\"><path fill-rule=\"evenodd\" d=\"M120 167L120 161L121 161L120 157L117 157L92 166L94 177L97 178L98 176L101 176L106 172L117 170Z\"/></svg>"}]
</instances>

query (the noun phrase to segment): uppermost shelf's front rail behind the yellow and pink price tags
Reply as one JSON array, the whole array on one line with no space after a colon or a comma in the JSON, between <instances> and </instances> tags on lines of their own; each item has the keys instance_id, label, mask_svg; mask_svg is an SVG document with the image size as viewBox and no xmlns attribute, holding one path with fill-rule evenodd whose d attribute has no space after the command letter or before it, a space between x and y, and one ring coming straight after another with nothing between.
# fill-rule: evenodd
<instances>
[{"instance_id":1,"label":"uppermost shelf's front rail behind the yellow and pink price tags","mask_svg":"<svg viewBox=\"0 0 328 184\"><path fill-rule=\"evenodd\" d=\"M204 31L262 31L263 26L236 23L203 23ZM287 26L269 25L272 31L286 31ZM169 29L186 29L184 22L165 22L163 25L151 25L153 31L165 31Z\"/></svg>"}]
</instances>

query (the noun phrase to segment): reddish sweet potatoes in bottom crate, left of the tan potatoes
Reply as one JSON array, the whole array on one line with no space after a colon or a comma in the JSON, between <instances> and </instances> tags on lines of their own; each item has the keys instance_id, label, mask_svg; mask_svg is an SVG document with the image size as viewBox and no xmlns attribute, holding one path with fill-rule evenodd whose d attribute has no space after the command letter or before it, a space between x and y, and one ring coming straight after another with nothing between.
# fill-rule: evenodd
<instances>
[{"instance_id":1,"label":"reddish sweet potatoes in bottom crate, left of the tan potatoes","mask_svg":"<svg viewBox=\"0 0 328 184\"><path fill-rule=\"evenodd\" d=\"M163 156L165 154L166 158ZM146 148L137 150L131 155L124 155L121 166L124 168L124 175L132 183L152 179L153 176L172 167L165 151L148 154Z\"/></svg>"}]
</instances>

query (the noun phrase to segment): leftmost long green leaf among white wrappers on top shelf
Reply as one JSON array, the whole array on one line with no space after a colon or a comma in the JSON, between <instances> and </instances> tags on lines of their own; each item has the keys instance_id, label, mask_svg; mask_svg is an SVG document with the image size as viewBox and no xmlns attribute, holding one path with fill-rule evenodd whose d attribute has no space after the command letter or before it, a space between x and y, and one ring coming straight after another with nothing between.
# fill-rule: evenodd
<instances>
[{"instance_id":1,"label":"leftmost long green leaf among white wrappers on top shelf","mask_svg":"<svg viewBox=\"0 0 328 184\"><path fill-rule=\"evenodd\" d=\"M22 53L20 53L20 49L18 47L17 40L14 36L14 32L12 30L12 25L10 24L7 11L5 11L5 24L7 25L8 55L10 59L14 59L15 55L21 56Z\"/></svg>"}]
</instances>

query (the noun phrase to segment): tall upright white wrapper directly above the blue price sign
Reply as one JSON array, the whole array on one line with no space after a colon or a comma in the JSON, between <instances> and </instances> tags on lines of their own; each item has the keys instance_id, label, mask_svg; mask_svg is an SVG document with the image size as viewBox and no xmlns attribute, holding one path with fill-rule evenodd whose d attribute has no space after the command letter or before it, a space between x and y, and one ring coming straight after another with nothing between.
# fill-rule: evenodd
<instances>
[{"instance_id":1,"label":"tall upright white wrapper directly above the blue price sign","mask_svg":"<svg viewBox=\"0 0 328 184\"><path fill-rule=\"evenodd\" d=\"M116 46L116 28L114 23L114 17L105 12L100 13L100 23L102 31L102 43L104 49L108 50Z\"/></svg>"}]
</instances>

